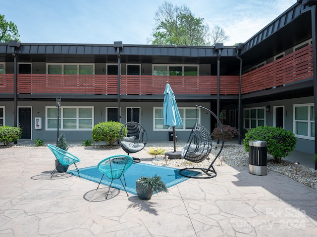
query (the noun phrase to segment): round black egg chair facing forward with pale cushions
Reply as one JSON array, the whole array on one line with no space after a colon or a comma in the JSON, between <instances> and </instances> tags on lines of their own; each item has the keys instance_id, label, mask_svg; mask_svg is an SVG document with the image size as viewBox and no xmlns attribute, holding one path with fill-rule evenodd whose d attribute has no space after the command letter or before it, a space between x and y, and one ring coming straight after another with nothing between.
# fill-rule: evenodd
<instances>
[{"instance_id":1,"label":"round black egg chair facing forward with pale cushions","mask_svg":"<svg viewBox=\"0 0 317 237\"><path fill-rule=\"evenodd\" d=\"M145 148L148 142L147 132L144 127L135 121L125 123L119 132L119 144L129 155ZM133 158L134 163L140 162L139 158Z\"/></svg>"}]
</instances>

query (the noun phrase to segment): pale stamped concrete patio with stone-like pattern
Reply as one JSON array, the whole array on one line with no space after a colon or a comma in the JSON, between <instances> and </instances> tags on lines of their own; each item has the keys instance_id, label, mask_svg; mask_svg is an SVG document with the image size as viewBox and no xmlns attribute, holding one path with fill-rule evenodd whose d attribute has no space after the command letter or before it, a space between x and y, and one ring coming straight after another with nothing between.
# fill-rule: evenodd
<instances>
[{"instance_id":1,"label":"pale stamped concrete patio with stone-like pattern","mask_svg":"<svg viewBox=\"0 0 317 237\"><path fill-rule=\"evenodd\" d=\"M78 167L97 165L114 148L71 147ZM134 154L151 163L145 151ZM169 193L137 196L67 173L52 179L48 147L0 149L0 236L3 237L313 237L317 190L268 171L216 166L212 179L189 179ZM70 167L73 169L74 167Z\"/></svg>"}]
</instances>

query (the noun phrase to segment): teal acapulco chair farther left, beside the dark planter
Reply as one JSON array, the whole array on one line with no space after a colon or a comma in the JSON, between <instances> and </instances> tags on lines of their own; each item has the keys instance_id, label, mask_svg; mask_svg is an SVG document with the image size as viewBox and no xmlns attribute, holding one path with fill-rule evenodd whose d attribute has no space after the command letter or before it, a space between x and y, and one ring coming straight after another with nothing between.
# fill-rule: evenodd
<instances>
[{"instance_id":1,"label":"teal acapulco chair farther left, beside the dark planter","mask_svg":"<svg viewBox=\"0 0 317 237\"><path fill-rule=\"evenodd\" d=\"M69 152L66 152L65 150L63 149L60 149L59 147L55 147L51 144L48 145L48 147L50 148L50 150L53 152L54 156L56 157L56 159L58 160L58 165L55 167L55 169L53 170L53 172L51 173L52 176L51 176L51 179L54 175L54 173L56 172L57 170L57 167L59 165L66 165L66 166L69 166L71 164L74 164L75 167L76 167L76 170L78 172L78 176L80 177L79 175L79 170L77 168L77 165L76 163L80 161L79 158L77 158L76 156L74 156L73 154L70 154Z\"/></svg>"}]
</instances>

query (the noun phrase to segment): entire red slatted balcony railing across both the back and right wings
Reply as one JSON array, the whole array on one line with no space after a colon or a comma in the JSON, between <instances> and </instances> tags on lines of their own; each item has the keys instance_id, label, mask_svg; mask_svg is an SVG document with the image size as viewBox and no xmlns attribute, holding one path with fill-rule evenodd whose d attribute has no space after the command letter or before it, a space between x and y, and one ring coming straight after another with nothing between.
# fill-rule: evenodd
<instances>
[{"instance_id":1,"label":"entire red slatted balcony railing across both the back and right wings","mask_svg":"<svg viewBox=\"0 0 317 237\"><path fill-rule=\"evenodd\" d=\"M313 49L308 45L242 76L242 94L275 88L313 77ZM127 76L120 77L122 95L158 95L169 81L177 95L216 95L216 76ZM116 95L116 75L18 74L19 94ZM0 74L0 93L14 93L13 74ZM220 75L220 95L237 95L239 76Z\"/></svg>"}]
</instances>

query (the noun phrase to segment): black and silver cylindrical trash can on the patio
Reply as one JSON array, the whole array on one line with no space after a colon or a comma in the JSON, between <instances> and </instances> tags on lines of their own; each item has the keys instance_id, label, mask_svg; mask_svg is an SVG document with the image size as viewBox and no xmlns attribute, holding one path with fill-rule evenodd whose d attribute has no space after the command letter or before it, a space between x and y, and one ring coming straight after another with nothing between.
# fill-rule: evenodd
<instances>
[{"instance_id":1,"label":"black and silver cylindrical trash can on the patio","mask_svg":"<svg viewBox=\"0 0 317 237\"><path fill-rule=\"evenodd\" d=\"M249 173L267 174L267 142L249 141Z\"/></svg>"}]
</instances>

